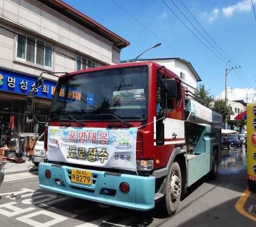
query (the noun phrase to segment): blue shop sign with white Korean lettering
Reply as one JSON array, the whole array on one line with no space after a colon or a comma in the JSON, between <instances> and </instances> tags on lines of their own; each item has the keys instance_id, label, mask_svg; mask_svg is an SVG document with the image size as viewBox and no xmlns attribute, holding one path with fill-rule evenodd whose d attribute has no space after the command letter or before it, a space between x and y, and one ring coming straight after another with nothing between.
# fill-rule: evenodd
<instances>
[{"instance_id":1,"label":"blue shop sign with white Korean lettering","mask_svg":"<svg viewBox=\"0 0 256 227\"><path fill-rule=\"evenodd\" d=\"M35 87L37 78L19 73L0 70L0 91L26 95ZM44 80L43 85L35 90L35 96L53 98L56 83Z\"/></svg>"}]
</instances>

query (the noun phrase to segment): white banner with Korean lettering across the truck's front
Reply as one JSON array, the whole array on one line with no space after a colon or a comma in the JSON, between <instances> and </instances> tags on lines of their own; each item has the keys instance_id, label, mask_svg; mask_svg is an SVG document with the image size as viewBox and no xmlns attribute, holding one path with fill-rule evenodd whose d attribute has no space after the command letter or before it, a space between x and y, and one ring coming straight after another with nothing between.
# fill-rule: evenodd
<instances>
[{"instance_id":1,"label":"white banner with Korean lettering across the truck's front","mask_svg":"<svg viewBox=\"0 0 256 227\"><path fill-rule=\"evenodd\" d=\"M137 128L48 127L48 160L136 171Z\"/></svg>"}]
</instances>

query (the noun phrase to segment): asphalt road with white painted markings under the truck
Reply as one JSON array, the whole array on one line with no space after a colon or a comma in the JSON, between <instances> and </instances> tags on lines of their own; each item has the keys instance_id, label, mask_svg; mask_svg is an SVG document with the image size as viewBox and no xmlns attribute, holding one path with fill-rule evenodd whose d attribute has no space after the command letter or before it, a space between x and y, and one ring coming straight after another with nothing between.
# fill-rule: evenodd
<instances>
[{"instance_id":1,"label":"asphalt road with white painted markings under the truck","mask_svg":"<svg viewBox=\"0 0 256 227\"><path fill-rule=\"evenodd\" d=\"M223 150L219 176L192 185L171 218L49 193L38 188L36 173L9 175L0 188L1 227L255 226L235 209L247 188L246 150ZM253 201L252 201L253 202ZM256 204L256 199L255 199Z\"/></svg>"}]
</instances>

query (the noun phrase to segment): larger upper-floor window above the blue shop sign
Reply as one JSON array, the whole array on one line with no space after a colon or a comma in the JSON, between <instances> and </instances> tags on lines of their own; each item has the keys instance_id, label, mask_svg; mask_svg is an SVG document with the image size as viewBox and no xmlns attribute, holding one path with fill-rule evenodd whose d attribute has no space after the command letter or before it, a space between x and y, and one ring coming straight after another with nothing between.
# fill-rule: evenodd
<instances>
[{"instance_id":1,"label":"larger upper-floor window above the blue shop sign","mask_svg":"<svg viewBox=\"0 0 256 227\"><path fill-rule=\"evenodd\" d=\"M18 35L17 37L16 57L18 60L52 68L52 53L52 45L27 35Z\"/></svg>"}]
</instances>

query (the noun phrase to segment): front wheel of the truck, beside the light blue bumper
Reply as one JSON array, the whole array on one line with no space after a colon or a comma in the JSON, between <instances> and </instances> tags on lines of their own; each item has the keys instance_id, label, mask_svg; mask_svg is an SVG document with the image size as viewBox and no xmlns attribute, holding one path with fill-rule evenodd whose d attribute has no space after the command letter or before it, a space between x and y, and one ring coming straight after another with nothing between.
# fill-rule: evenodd
<instances>
[{"instance_id":1,"label":"front wheel of the truck, beside the light blue bumper","mask_svg":"<svg viewBox=\"0 0 256 227\"><path fill-rule=\"evenodd\" d=\"M157 204L156 209L164 216L173 215L180 204L181 199L181 170L178 162L174 162L166 176L165 196Z\"/></svg>"}]
</instances>

